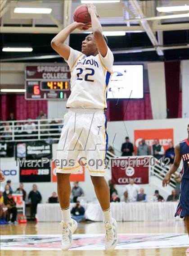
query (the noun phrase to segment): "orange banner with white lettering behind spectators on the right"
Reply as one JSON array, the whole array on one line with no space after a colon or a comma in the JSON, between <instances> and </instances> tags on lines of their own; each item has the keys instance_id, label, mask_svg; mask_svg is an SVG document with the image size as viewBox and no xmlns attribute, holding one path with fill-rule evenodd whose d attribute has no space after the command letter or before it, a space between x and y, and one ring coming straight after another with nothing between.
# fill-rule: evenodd
<instances>
[{"instance_id":1,"label":"orange banner with white lettering behind spectators on the right","mask_svg":"<svg viewBox=\"0 0 189 256\"><path fill-rule=\"evenodd\" d=\"M154 139L159 139L159 144L164 147L165 151L168 148L169 142L172 142L174 145L173 129L135 130L134 137L135 155L142 139L146 141L146 144L150 147L150 150L154 143Z\"/></svg>"}]
</instances>

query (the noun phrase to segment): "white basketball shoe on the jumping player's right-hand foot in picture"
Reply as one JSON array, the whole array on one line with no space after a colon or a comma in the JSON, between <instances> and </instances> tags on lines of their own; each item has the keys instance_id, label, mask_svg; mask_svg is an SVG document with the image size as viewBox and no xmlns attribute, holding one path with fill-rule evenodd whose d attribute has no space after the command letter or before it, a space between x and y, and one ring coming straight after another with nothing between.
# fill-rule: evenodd
<instances>
[{"instance_id":1,"label":"white basketball shoe on the jumping player's right-hand foot in picture","mask_svg":"<svg viewBox=\"0 0 189 256\"><path fill-rule=\"evenodd\" d=\"M105 250L112 251L117 245L117 222L115 219L112 221L104 221L104 227L106 230L105 236Z\"/></svg>"}]
</instances>

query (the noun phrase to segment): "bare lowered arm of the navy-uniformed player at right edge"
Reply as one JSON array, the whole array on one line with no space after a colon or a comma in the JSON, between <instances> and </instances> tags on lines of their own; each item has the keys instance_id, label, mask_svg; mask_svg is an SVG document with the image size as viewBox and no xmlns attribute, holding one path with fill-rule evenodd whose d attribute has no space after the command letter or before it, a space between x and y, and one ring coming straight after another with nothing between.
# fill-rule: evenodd
<instances>
[{"instance_id":1,"label":"bare lowered arm of the navy-uniformed player at right edge","mask_svg":"<svg viewBox=\"0 0 189 256\"><path fill-rule=\"evenodd\" d=\"M179 168L180 161L181 161L180 144L177 144L175 146L175 160L174 160L174 163L171 165L171 168L167 172L165 178L163 179L163 182L162 182L163 187L166 187L166 185L170 183L171 174L174 174L175 171Z\"/></svg>"}]
</instances>

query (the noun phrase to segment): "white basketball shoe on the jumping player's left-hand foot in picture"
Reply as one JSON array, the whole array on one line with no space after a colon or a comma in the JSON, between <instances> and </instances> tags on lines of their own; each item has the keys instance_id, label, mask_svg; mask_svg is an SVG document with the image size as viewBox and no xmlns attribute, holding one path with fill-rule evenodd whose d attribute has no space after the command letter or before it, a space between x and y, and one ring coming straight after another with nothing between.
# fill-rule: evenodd
<instances>
[{"instance_id":1,"label":"white basketball shoe on the jumping player's left-hand foot in picture","mask_svg":"<svg viewBox=\"0 0 189 256\"><path fill-rule=\"evenodd\" d=\"M63 222L62 220L60 224L63 228L61 249L67 251L72 246L72 234L76 231L78 224L74 219L71 219L70 222Z\"/></svg>"}]
</instances>

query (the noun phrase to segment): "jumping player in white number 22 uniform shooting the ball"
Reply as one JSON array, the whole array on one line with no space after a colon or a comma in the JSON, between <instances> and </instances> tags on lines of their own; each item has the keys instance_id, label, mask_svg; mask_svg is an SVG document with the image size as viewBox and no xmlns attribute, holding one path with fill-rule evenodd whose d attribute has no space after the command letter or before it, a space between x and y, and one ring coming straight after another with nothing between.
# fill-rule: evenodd
<instances>
[{"instance_id":1,"label":"jumping player in white number 22 uniform shooting the ball","mask_svg":"<svg viewBox=\"0 0 189 256\"><path fill-rule=\"evenodd\" d=\"M63 160L62 165L57 167L58 199L63 217L62 250L71 247L72 233L77 227L70 215L69 177L80 169L81 157L85 157L94 191L103 211L105 249L111 251L117 244L117 223L112 218L110 192L104 178L104 160L108 146L104 110L107 108L106 97L112 74L113 54L103 36L94 5L89 4L87 8L93 33L82 41L81 52L65 45L64 41L76 28L88 29L89 26L84 23L73 22L51 42L53 49L65 59L71 70L71 95L67 100L68 113L64 116L57 155L59 161Z\"/></svg>"}]
</instances>

